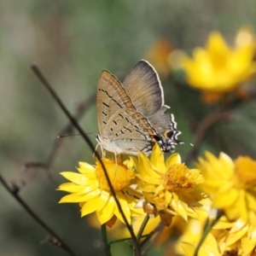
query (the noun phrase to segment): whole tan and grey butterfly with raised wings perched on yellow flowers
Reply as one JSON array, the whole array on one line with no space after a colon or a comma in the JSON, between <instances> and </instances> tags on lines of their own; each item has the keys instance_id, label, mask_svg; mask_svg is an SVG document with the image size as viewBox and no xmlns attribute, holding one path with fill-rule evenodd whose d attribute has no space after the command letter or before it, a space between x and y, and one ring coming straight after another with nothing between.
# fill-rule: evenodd
<instances>
[{"instance_id":1,"label":"whole tan and grey butterfly with raised wings perched on yellow flowers","mask_svg":"<svg viewBox=\"0 0 256 256\"><path fill-rule=\"evenodd\" d=\"M148 61L138 61L123 83L103 70L97 84L97 142L114 154L150 154L158 143L163 152L173 152L181 133L164 93L158 73Z\"/></svg>"}]
</instances>

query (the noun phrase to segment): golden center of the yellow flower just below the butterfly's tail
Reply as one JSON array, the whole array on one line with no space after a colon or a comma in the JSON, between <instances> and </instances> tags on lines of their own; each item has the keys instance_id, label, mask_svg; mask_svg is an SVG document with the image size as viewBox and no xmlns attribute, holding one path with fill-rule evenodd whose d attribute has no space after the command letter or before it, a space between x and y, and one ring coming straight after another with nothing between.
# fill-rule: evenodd
<instances>
[{"instance_id":1,"label":"golden center of the yellow flower just below the butterfly's tail","mask_svg":"<svg viewBox=\"0 0 256 256\"><path fill-rule=\"evenodd\" d=\"M163 186L170 192L180 189L190 189L195 185L199 172L189 170L184 164L174 164L167 170L163 179Z\"/></svg>"}]
</instances>

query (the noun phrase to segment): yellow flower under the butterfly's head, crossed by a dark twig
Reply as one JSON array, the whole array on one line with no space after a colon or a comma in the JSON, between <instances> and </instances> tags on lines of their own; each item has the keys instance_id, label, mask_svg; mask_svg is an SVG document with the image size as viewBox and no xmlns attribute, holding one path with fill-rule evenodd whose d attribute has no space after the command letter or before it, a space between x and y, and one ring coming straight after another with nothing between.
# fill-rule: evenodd
<instances>
[{"instance_id":1,"label":"yellow flower under the butterfly's head, crossed by a dark twig","mask_svg":"<svg viewBox=\"0 0 256 256\"><path fill-rule=\"evenodd\" d=\"M102 159L102 161L104 166L106 166L115 195L125 213L125 217L131 223L131 216L140 216L143 213L139 209L134 208L140 195L129 186L134 177L134 171L119 160L117 163L115 160L108 159ZM101 224L112 226L116 218L124 222L110 192L100 162L96 161L96 166L79 162L78 170L80 173L61 172L61 175L66 177L71 183L63 183L58 188L70 193L70 195L63 196L60 203L79 203L81 217L91 212L96 212L96 216Z\"/></svg>"}]
</instances>

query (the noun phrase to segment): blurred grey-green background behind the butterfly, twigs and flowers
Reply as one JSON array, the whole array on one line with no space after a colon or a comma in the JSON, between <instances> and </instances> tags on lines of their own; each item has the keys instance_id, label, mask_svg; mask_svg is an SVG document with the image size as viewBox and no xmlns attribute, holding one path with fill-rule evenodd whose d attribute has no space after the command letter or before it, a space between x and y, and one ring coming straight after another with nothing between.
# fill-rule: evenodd
<instances>
[{"instance_id":1,"label":"blurred grey-green background behind the butterfly, twigs and flowers","mask_svg":"<svg viewBox=\"0 0 256 256\"><path fill-rule=\"evenodd\" d=\"M67 108L96 93L102 69L123 79L160 38L188 52L204 45L208 33L218 30L232 43L243 25L256 26L256 2L205 0L9 0L0 2L0 162L7 181L25 183L20 196L77 255L102 255L101 236L79 217L79 207L58 205L64 195L55 189L62 171L74 171L79 161L94 163L82 137L62 139L49 179L43 168L21 170L29 161L44 162L68 120L38 82L29 65L36 62ZM180 139L192 143L191 122L210 110L193 90L179 88L171 76L162 79L166 104L172 107ZM231 156L256 157L255 102L236 109L224 129L229 131ZM84 131L98 131L96 102L79 120ZM76 133L76 131L73 131ZM214 138L212 138L214 141ZM211 137L209 137L211 141ZM218 153L218 143L202 148ZM189 146L178 146L183 156ZM61 248L41 244L47 236L0 185L0 255L67 255ZM118 254L118 253L117 253Z\"/></svg>"}]
</instances>

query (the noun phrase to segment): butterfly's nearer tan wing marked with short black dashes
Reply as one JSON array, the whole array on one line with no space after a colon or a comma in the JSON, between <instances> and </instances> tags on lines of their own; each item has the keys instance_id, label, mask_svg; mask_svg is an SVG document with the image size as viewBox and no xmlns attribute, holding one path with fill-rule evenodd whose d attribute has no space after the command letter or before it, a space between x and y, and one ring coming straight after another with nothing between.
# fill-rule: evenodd
<instances>
[{"instance_id":1,"label":"butterfly's nearer tan wing marked with short black dashes","mask_svg":"<svg viewBox=\"0 0 256 256\"><path fill-rule=\"evenodd\" d=\"M114 153L150 152L157 132L138 113L119 80L103 71L97 87L97 113L102 147Z\"/></svg>"}]
</instances>

